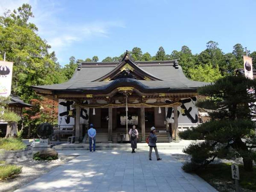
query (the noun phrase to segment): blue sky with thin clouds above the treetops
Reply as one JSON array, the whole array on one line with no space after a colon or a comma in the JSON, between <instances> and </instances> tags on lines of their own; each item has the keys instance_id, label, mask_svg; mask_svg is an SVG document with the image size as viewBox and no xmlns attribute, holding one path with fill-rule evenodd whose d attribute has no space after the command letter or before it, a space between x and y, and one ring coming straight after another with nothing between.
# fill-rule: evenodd
<instances>
[{"instance_id":1,"label":"blue sky with thin clouds above the treetops","mask_svg":"<svg viewBox=\"0 0 256 192\"><path fill-rule=\"evenodd\" d=\"M255 0L1 0L0 13L32 5L31 22L61 65L76 59L119 56L137 46L155 55L187 45L200 53L210 40L223 52L241 43L256 51Z\"/></svg>"}]
</instances>

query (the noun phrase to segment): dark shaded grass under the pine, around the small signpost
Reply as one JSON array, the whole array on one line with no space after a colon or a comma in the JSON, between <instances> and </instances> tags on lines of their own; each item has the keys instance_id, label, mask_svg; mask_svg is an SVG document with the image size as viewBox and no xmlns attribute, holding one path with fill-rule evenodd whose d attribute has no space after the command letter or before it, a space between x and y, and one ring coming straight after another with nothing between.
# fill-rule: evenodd
<instances>
[{"instance_id":1,"label":"dark shaded grass under the pine, around the small signpost","mask_svg":"<svg viewBox=\"0 0 256 192\"><path fill-rule=\"evenodd\" d=\"M228 188L235 188L235 181L231 177L231 164L210 164L206 169L197 171L196 174L219 191L225 191L221 190L221 187L218 188L222 184L229 186ZM239 186L256 191L256 167L253 167L252 172L246 172L243 165L239 165L239 174Z\"/></svg>"}]
</instances>

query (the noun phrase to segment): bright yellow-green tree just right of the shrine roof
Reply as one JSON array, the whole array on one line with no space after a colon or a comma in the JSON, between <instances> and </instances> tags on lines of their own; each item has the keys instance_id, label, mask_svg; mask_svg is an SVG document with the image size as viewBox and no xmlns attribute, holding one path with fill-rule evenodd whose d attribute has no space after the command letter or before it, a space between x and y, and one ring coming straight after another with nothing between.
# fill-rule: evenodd
<instances>
[{"instance_id":1,"label":"bright yellow-green tree just right of the shrine roof","mask_svg":"<svg viewBox=\"0 0 256 192\"><path fill-rule=\"evenodd\" d=\"M198 65L195 68L189 68L188 72L194 81L215 82L222 77L218 65L215 68L211 64Z\"/></svg>"}]
</instances>

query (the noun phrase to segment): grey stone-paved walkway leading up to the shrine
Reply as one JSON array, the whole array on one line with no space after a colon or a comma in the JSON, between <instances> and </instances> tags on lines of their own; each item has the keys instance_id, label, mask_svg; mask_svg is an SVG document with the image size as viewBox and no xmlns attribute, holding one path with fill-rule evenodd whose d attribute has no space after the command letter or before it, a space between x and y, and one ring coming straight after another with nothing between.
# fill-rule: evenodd
<instances>
[{"instance_id":1,"label":"grey stone-paved walkway leading up to the shrine","mask_svg":"<svg viewBox=\"0 0 256 192\"><path fill-rule=\"evenodd\" d=\"M147 151L65 151L77 158L28 183L15 192L214 192L197 175L181 170L170 150L160 150L162 161L152 161Z\"/></svg>"}]
</instances>

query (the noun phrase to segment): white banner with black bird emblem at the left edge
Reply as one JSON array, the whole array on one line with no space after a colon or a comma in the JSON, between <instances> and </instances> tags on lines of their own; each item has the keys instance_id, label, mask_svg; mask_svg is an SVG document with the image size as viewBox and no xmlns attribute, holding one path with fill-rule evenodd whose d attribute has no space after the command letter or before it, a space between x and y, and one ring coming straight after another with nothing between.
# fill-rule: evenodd
<instances>
[{"instance_id":1,"label":"white banner with black bird emblem at the left edge","mask_svg":"<svg viewBox=\"0 0 256 192\"><path fill-rule=\"evenodd\" d=\"M0 61L0 96L8 97L12 87L12 62Z\"/></svg>"}]
</instances>

